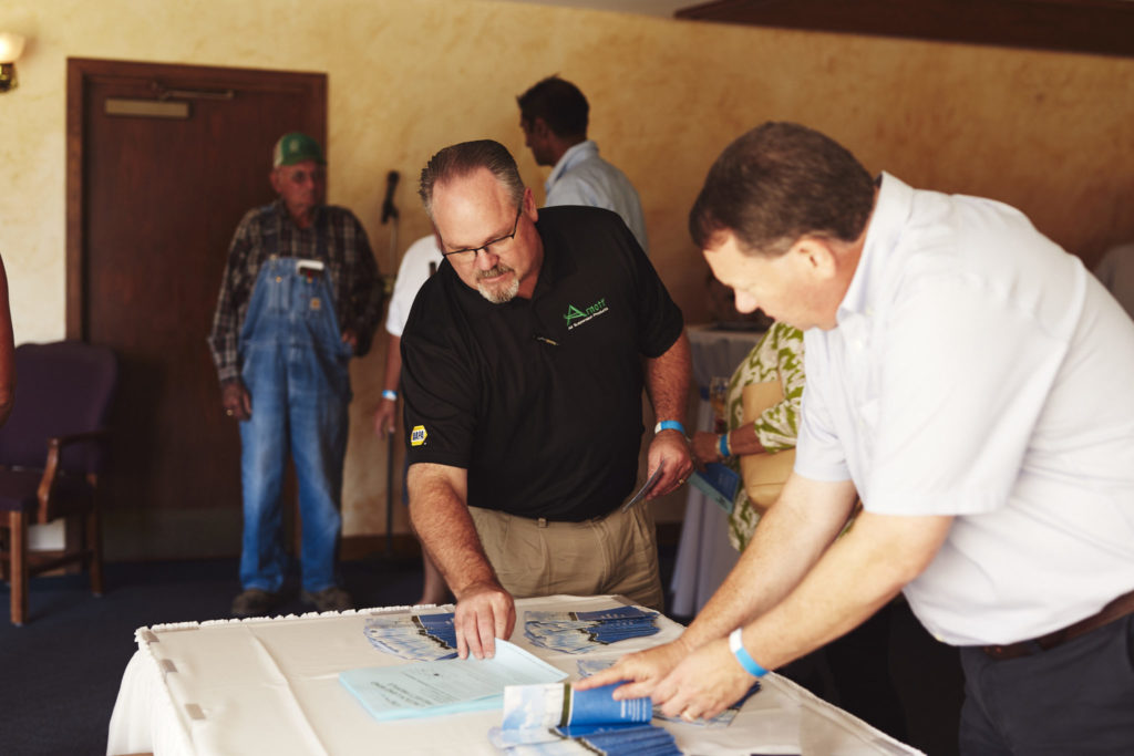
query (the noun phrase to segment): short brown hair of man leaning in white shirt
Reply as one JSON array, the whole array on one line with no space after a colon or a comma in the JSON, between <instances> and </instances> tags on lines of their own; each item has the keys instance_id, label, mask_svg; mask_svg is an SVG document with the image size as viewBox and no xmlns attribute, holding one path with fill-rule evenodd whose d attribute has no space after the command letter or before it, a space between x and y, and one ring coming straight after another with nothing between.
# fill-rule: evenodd
<instances>
[{"instance_id":1,"label":"short brown hair of man leaning in white shirt","mask_svg":"<svg viewBox=\"0 0 1134 756\"><path fill-rule=\"evenodd\" d=\"M874 181L854 155L798 124L764 124L709 169L689 211L704 249L723 231L747 254L781 255L805 235L854 241L874 205Z\"/></svg>"}]
</instances>

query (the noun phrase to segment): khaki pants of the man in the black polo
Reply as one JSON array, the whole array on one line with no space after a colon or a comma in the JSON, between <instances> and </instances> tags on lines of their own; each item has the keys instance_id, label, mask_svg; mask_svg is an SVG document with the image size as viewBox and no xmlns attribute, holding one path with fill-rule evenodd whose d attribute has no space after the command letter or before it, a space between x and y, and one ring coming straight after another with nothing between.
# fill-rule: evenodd
<instances>
[{"instance_id":1,"label":"khaki pants of the man in the black polo","mask_svg":"<svg viewBox=\"0 0 1134 756\"><path fill-rule=\"evenodd\" d=\"M468 508L500 584L516 598L620 594L661 611L653 515L645 502L582 523Z\"/></svg>"}]
</instances>

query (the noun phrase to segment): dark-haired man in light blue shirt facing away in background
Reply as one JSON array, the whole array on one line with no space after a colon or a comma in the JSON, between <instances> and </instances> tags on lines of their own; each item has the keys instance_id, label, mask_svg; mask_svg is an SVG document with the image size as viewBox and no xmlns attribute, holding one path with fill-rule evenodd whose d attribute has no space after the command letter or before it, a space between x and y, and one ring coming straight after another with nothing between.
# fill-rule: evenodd
<instances>
[{"instance_id":1,"label":"dark-haired man in light blue shirt facing away in background","mask_svg":"<svg viewBox=\"0 0 1134 756\"><path fill-rule=\"evenodd\" d=\"M524 144L539 165L553 165L544 184L544 207L586 205L618 213L642 250L646 243L642 202L631 180L599 156L586 138L591 107L577 86L549 76L516 97Z\"/></svg>"}]
</instances>

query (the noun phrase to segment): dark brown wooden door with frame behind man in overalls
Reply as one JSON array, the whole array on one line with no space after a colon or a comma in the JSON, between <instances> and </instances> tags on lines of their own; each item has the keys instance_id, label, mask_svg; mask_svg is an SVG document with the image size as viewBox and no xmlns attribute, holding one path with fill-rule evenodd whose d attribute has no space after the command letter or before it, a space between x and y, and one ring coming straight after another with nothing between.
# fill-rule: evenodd
<instances>
[{"instance_id":1,"label":"dark brown wooden door with frame behind man in overalls","mask_svg":"<svg viewBox=\"0 0 1134 756\"><path fill-rule=\"evenodd\" d=\"M325 144L327 77L68 60L67 333L120 381L108 555L239 552L239 435L205 338L240 216L286 131Z\"/></svg>"}]
</instances>

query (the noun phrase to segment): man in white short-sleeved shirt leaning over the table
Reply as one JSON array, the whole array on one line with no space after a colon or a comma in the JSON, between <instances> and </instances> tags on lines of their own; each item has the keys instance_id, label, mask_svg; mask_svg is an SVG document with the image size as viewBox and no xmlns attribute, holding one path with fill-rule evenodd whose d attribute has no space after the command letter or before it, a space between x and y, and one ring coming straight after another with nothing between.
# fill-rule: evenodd
<instances>
[{"instance_id":1,"label":"man in white short-sleeved shirt leaning over the table","mask_svg":"<svg viewBox=\"0 0 1134 756\"><path fill-rule=\"evenodd\" d=\"M578 687L711 717L903 592L959 648L963 754L1134 753L1134 321L1018 211L795 124L726 148L689 226L805 332L795 472L678 640Z\"/></svg>"}]
</instances>

